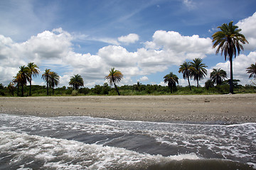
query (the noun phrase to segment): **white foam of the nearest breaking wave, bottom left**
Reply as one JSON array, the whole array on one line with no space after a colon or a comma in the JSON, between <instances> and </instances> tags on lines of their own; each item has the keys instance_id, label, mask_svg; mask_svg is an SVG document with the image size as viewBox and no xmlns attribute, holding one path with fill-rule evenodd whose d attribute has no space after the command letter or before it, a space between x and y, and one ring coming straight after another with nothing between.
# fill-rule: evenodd
<instances>
[{"instance_id":1,"label":"white foam of the nearest breaking wave, bottom left","mask_svg":"<svg viewBox=\"0 0 256 170\"><path fill-rule=\"evenodd\" d=\"M125 168L172 160L199 159L196 154L162 157L116 147L3 131L0 131L0 150L0 153L14 155L10 164L33 157L35 161L43 161L43 167L56 169L108 169L114 166Z\"/></svg>"}]
</instances>

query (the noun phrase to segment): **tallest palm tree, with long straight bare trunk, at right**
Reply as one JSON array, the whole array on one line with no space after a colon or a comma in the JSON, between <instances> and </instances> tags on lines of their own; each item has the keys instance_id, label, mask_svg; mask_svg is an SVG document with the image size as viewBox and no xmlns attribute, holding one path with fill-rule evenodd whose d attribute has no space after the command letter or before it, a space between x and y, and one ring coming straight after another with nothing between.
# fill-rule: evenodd
<instances>
[{"instance_id":1,"label":"tallest palm tree, with long straight bare trunk, at right","mask_svg":"<svg viewBox=\"0 0 256 170\"><path fill-rule=\"evenodd\" d=\"M223 23L222 26L218 26L220 31L214 33L213 37L213 47L217 47L216 55L221 51L221 55L225 56L225 60L230 61L230 93L233 94L233 56L236 57L240 55L240 50L243 50L242 44L245 42L249 43L245 39L245 35L239 33L242 29L238 29L238 26L233 26L233 21L230 23Z\"/></svg>"}]
</instances>

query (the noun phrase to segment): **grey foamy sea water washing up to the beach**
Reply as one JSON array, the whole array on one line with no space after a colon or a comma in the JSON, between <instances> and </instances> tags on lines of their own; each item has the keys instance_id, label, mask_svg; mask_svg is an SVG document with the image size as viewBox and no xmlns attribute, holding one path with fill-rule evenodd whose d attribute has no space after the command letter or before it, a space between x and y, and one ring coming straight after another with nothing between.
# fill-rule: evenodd
<instances>
[{"instance_id":1,"label":"grey foamy sea water washing up to the beach","mask_svg":"<svg viewBox=\"0 0 256 170\"><path fill-rule=\"evenodd\" d=\"M256 169L256 123L0 114L0 169Z\"/></svg>"}]
</instances>

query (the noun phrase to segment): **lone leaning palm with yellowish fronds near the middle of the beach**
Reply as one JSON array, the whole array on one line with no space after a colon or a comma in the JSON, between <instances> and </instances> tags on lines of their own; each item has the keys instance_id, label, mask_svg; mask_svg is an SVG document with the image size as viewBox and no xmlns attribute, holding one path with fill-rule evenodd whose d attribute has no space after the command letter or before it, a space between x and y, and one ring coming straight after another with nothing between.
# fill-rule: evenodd
<instances>
[{"instance_id":1,"label":"lone leaning palm with yellowish fronds near the middle of the beach","mask_svg":"<svg viewBox=\"0 0 256 170\"><path fill-rule=\"evenodd\" d=\"M124 75L119 70L115 70L114 67L110 69L110 74L108 74L105 79L110 81L110 85L114 84L114 88L117 91L118 96L120 96L119 91L117 89L117 83L119 83L123 79Z\"/></svg>"}]
</instances>

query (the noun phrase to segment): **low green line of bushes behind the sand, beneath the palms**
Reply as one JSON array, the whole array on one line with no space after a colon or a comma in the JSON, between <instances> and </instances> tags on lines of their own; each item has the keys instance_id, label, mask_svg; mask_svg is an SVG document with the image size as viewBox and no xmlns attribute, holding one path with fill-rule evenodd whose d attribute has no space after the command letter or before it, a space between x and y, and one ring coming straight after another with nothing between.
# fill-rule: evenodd
<instances>
[{"instance_id":1,"label":"low green line of bushes behind the sand, beneath the palms","mask_svg":"<svg viewBox=\"0 0 256 170\"><path fill-rule=\"evenodd\" d=\"M124 85L118 87L119 92L122 96L133 96L133 95L171 95L171 89L168 86L152 85L152 84L141 84L137 83L134 85ZM21 94L21 89L14 87L14 91L10 91L7 86L0 84L0 96L18 96ZM24 96L29 96L30 86L24 86ZM47 87L32 85L31 96L47 96ZM248 94L256 93L256 86L239 84L239 80L234 80L234 92L236 94ZM224 81L222 85L217 86L205 86L196 87L191 86L175 86L173 89L174 95L182 94L228 94L229 84L228 81ZM91 96L91 95L106 95L113 96L117 95L116 89L109 86L107 83L102 85L95 85L92 88L83 87L75 90L73 87L58 87L54 89L54 95L49 93L50 96Z\"/></svg>"}]
</instances>

